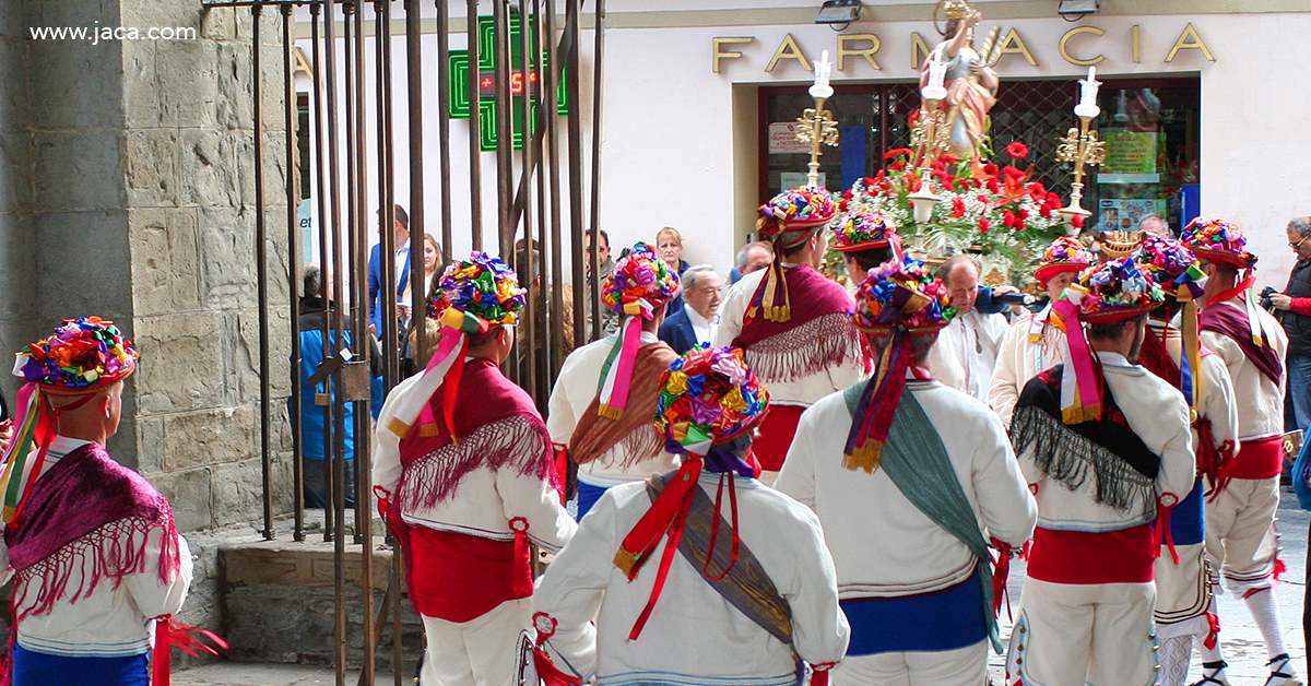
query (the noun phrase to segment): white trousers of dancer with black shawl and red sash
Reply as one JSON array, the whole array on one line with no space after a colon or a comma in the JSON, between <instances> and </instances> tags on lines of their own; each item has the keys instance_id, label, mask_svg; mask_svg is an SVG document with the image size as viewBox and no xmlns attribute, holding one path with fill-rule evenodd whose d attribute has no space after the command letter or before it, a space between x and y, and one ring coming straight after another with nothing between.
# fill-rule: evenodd
<instances>
[{"instance_id":1,"label":"white trousers of dancer with black shawl and red sash","mask_svg":"<svg viewBox=\"0 0 1311 686\"><path fill-rule=\"evenodd\" d=\"M1024 580L1011 631L1007 683L1150 686L1156 683L1152 584L1051 584Z\"/></svg>"}]
</instances>

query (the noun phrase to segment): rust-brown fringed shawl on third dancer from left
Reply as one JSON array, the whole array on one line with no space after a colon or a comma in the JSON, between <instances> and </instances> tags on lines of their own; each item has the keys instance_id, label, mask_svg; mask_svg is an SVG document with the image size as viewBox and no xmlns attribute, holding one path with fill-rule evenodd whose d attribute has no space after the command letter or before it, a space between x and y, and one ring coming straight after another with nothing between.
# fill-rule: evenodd
<instances>
[{"instance_id":1,"label":"rust-brown fringed shawl on third dancer from left","mask_svg":"<svg viewBox=\"0 0 1311 686\"><path fill-rule=\"evenodd\" d=\"M619 418L610 418L597 409L600 399L594 397L578 420L569 441L569 456L578 464L604 455L621 446L625 455L623 467L659 455L665 437L656 430L656 401L659 399L659 376L678 354L663 344L644 345L633 362L633 376L628 386L628 404Z\"/></svg>"}]
</instances>

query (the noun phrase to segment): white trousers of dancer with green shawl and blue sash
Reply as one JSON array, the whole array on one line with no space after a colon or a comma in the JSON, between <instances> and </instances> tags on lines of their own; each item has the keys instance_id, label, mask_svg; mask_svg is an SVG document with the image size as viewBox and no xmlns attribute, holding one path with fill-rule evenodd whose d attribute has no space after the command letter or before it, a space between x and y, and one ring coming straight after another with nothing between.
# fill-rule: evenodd
<instances>
[{"instance_id":1,"label":"white trousers of dancer with green shawl and blue sash","mask_svg":"<svg viewBox=\"0 0 1311 686\"><path fill-rule=\"evenodd\" d=\"M987 640L954 651L848 655L834 686L986 686Z\"/></svg>"}]
</instances>

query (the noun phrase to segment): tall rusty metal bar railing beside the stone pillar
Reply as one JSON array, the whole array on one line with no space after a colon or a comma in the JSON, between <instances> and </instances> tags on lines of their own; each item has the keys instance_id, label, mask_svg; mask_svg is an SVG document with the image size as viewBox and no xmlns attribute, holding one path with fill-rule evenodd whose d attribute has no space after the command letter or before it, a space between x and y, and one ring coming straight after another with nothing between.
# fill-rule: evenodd
<instances>
[{"instance_id":1,"label":"tall rusty metal bar railing beside the stone pillar","mask_svg":"<svg viewBox=\"0 0 1311 686\"><path fill-rule=\"evenodd\" d=\"M481 9L490 9L493 17L493 47L496 55L496 79L493 101L501 115L497 121L498 148L494 153L493 169L497 185L496 244L486 245L482 231L482 156L479 121L479 0L465 0L467 41L469 70L467 89L473 104L468 119L468 163L467 180L452 178L451 171L451 111L450 111L450 3L435 0L437 64L427 64L421 50L421 9L420 0L400 3L405 18L405 64L404 92L408 117L404 122L392 118L395 76L392 52L391 21L395 4L391 0L235 0L205 3L205 9L249 8L253 16L249 50L253 66L253 121L254 121L254 181L256 181L256 251L260 299L260 449L262 453L262 533L266 539L274 538L274 519L284 514L275 512L274 492L286 484L274 483L273 447L270 446L274 428L273 404L281 399L273 397L270 378L270 278L282 278L281 273L270 274L267 232L267 198L265 195L265 123L279 117L284 131L286 151L286 220L288 231L288 260L286 274L291 293L291 397L288 414L292 439L292 536L296 542L305 540L304 515L304 472L302 466L304 437L302 435L302 412L305 403L321 407L325 425L324 449L328 458L325 496L330 504L324 514L324 540L332 542L334 559L336 597L336 668L337 683L346 679L346 560L349 555L359 554L359 586L363 598L363 673L361 683L374 683L375 652L379 636L388 624L395 632L393 645L396 683L402 679L401 655L401 564L399 550L393 550L392 572L382 607L374 606L374 547L370 459L367 450L370 435L370 386L371 370L380 370L383 384L391 390L401 380L399 349L405 332L399 328L397 299L382 298L380 359L374 358L367 341L372 333L368 328L368 256L370 216L374 214L368 203L367 189L376 184L378 216L383 227L395 223L396 205L396 164L408 164L409 169L409 236L410 236L410 306L414 320L422 323L427 312L429 283L425 281L423 236L431 216L440 230L443 261L450 261L452 243L461 231L467 231L473 249L488 249L499 254L519 273L520 282L530 287L528 304L520 325L520 353L506 362L506 374L528 391L543 411L547 396L555 383L560 365L568 349L582 345L599 334L600 327L589 331L589 316L600 321L599 279L586 283L583 264L583 231L590 233L591 244L598 244L599 195L600 195L600 117L602 102L600 55L604 47L604 0L597 0L595 52L591 64L593 91L590 109L591 131L591 178L585 189L583 142L581 106L581 0L562 0L564 25L557 28L557 0L492 0L481 3ZM313 169L299 169L296 146L298 96L295 88L296 34L295 8L304 7L309 16L309 52L313 70L309 102L313 117L312 146ZM264 60L271 58L273 42L261 35L261 21L265 9L281 13L281 60L284 89L281 94L281 113L265 111ZM374 31L374 58L368 64L366 51L366 13L371 14ZM520 121L515 117L514 100L528 98L531 91L524 88L522 96L513 93L511 84L511 21L515 14L522 20L518 34L518 50L523 72L538 68L540 87L539 106L524 102ZM341 35L338 35L338 29ZM532 55L534 59L528 59ZM338 68L341 64L341 68ZM543 66L545 68L543 68ZM371 67L371 68L370 68ZM371 75L371 76L370 76ZM557 92L564 79L569 114L564 115L566 138L566 159L558 159L558 138L561 135L557 109ZM435 85L438 110L435 115L425 111L422 96L425 89ZM370 108L371 106L371 108ZM376 127L368 130L366 113L376 111ZM408 129L408 150L393 150L393 132L397 123ZM515 123L523 132L523 146L518 153L513 146ZM435 140L429 138L433 132ZM345 140L342 140L345 139ZM438 155L438 180L429 184L423 173L423 155L435 151ZM370 155L372 152L372 155ZM396 153L408 155L396 160ZM372 163L370 163L372 160ZM564 173L562 173L564 172ZM312 174L313 203L317 222L317 254L321 265L321 290L317 294L325 307L320 336L323 365L308 379L302 379L302 348L299 331L299 302L296 294L302 290L303 254L296 207L300 205L298 174ZM566 174L566 176L565 176ZM456 189L456 186L463 186ZM585 203L585 190L589 190L590 206ZM467 193L467 195L465 195ZM456 194L460 198L456 198ZM566 195L568 194L568 195ZM429 201L433 201L431 203ZM471 211L471 223L456 227L452 223L451 207L464 201ZM435 203L435 205L434 205ZM562 209L569 209L568 223L562 220ZM585 218L587 226L585 227ZM565 270L564 249L568 232L569 264ZM380 248L380 291L396 293L396 245L389 230L382 233ZM518 249L517 249L518 248ZM590 273L598 274L595 252ZM568 282L568 286L566 286ZM572 296L566 298L566 289ZM585 289L590 289L590 295ZM338 304L332 304L329 295L340 295ZM346 303L346 304L341 304ZM569 304L572 304L572 311ZM590 308L590 312L589 312ZM572 324L572 334L566 332ZM417 352L429 350L435 341L423 340L423 327L416 329ZM346 345L349 338L350 345ZM349 352L347 352L349 350ZM426 355L418 354L417 359ZM313 397L302 397L302 382L308 380L315 388ZM347 543L346 513L346 403L351 404L354 421L355 455L354 460L355 508L351 513L349 530L354 538Z\"/></svg>"}]
</instances>

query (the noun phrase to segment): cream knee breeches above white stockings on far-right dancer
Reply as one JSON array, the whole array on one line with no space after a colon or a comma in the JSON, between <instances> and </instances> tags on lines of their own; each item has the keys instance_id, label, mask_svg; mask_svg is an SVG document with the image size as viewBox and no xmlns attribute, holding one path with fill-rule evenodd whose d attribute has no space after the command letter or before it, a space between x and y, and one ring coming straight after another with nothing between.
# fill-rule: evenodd
<instances>
[{"instance_id":1,"label":"cream knee breeches above white stockings on far-right dancer","mask_svg":"<svg viewBox=\"0 0 1311 686\"><path fill-rule=\"evenodd\" d=\"M1224 575L1224 586L1242 597L1264 589L1274 577L1278 534L1280 479L1234 479L1215 502L1206 504L1206 556L1211 573Z\"/></svg>"}]
</instances>

